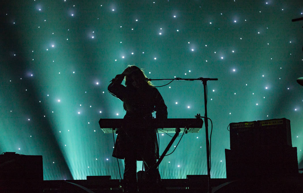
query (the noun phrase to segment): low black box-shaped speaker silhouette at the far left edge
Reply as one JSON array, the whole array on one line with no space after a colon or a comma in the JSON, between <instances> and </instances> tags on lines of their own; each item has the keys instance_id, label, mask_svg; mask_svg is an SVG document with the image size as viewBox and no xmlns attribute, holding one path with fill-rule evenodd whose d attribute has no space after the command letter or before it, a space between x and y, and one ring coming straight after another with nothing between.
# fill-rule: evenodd
<instances>
[{"instance_id":1,"label":"low black box-shaped speaker silhouette at the far left edge","mask_svg":"<svg viewBox=\"0 0 303 193\"><path fill-rule=\"evenodd\" d=\"M42 155L20 155L5 152L0 155L0 182L42 182Z\"/></svg>"}]
</instances>

